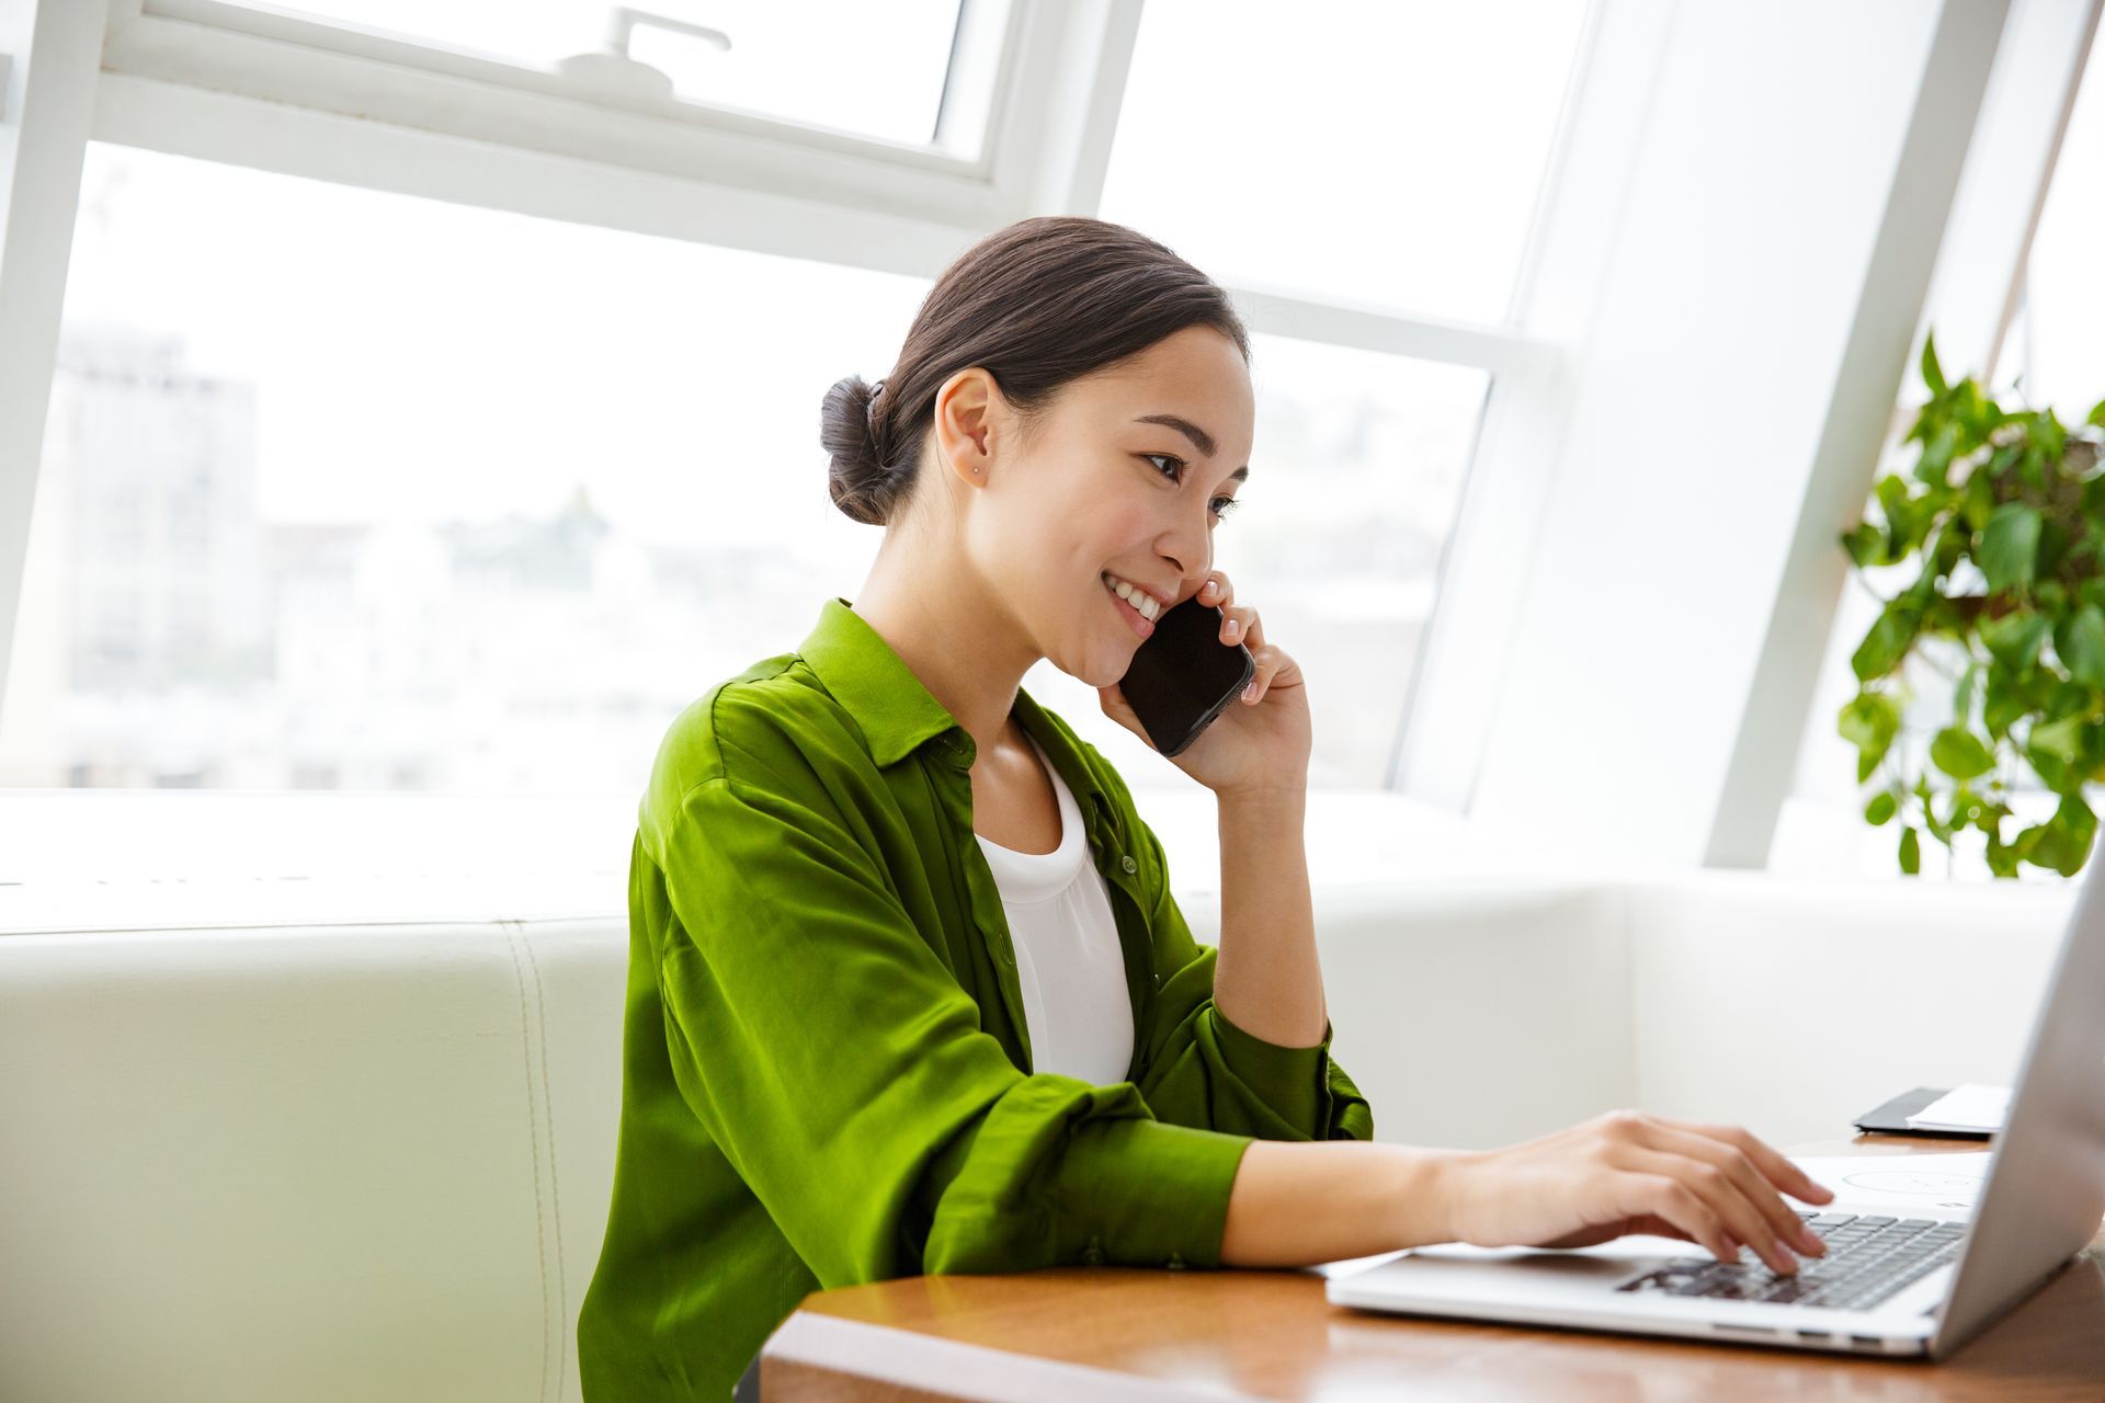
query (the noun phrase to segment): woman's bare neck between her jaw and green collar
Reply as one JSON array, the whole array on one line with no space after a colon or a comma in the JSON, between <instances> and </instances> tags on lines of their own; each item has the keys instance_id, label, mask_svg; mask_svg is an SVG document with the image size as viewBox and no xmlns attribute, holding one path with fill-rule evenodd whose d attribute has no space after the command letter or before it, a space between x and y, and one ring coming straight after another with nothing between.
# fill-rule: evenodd
<instances>
[{"instance_id":1,"label":"woman's bare neck between her jaw and green collar","mask_svg":"<svg viewBox=\"0 0 2105 1403\"><path fill-rule=\"evenodd\" d=\"M960 551L888 532L855 612L958 717L979 755L1008 734L1023 673L1042 656L1017 621L973 583Z\"/></svg>"}]
</instances>

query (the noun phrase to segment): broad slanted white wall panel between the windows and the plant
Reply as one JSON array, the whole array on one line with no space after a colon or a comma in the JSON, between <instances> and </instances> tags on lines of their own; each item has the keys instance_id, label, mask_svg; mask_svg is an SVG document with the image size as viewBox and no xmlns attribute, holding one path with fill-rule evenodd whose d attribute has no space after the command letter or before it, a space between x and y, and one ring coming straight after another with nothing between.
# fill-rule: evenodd
<instances>
[{"instance_id":1,"label":"broad slanted white wall panel between the windows and the plant","mask_svg":"<svg viewBox=\"0 0 2105 1403\"><path fill-rule=\"evenodd\" d=\"M1918 114L1979 93L1918 99L1956 53L1985 84L2000 17L1673 8L1598 313L1570 347L1575 402L1474 816L1703 858L1810 473L1823 452L1848 459L1831 425L1878 400L1867 381L1888 381L1890 406L1920 311L1943 206L1890 219L1907 139ZM1985 44L1932 50L1941 25ZM1960 126L1916 164L1956 181ZM1852 345L1867 334L1876 353ZM1882 427L1884 410L1865 484Z\"/></svg>"}]
</instances>

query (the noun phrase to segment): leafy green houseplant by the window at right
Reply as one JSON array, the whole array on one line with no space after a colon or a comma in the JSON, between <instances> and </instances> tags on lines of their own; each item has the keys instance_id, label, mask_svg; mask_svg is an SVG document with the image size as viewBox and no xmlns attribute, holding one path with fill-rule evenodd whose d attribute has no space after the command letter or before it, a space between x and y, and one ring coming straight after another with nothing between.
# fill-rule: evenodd
<instances>
[{"instance_id":1,"label":"leafy green houseplant by the window at right","mask_svg":"<svg viewBox=\"0 0 2105 1403\"><path fill-rule=\"evenodd\" d=\"M1918 446L1913 469L1880 477L1842 534L1859 572L1918 564L1911 585L1882 595L1850 656L1857 696L1836 717L1857 747L1863 816L1899 825L1909 875L1924 831L1949 850L1970 827L1996 877L2021 862L2071 877L2097 835L2084 782L2105 780L2105 402L2073 429L2052 408L2006 410L1972 377L1945 383L1934 337L1922 381L1930 398L1903 440ZM1916 700L1911 656L1951 684L1928 764L1894 747ZM2017 764L2059 806L2006 835Z\"/></svg>"}]
</instances>

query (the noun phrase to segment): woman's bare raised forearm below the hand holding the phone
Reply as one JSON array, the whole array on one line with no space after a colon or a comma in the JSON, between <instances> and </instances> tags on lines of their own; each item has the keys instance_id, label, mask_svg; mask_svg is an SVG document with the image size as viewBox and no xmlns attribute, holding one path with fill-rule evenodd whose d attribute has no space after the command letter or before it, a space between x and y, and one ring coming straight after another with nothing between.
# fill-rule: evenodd
<instances>
[{"instance_id":1,"label":"woman's bare raised forearm below the hand holding the phone","mask_svg":"<svg viewBox=\"0 0 2105 1403\"><path fill-rule=\"evenodd\" d=\"M1322 1041L1328 1012L1303 839L1307 791L1221 797L1221 953L1212 1001L1282 1048Z\"/></svg>"}]
</instances>

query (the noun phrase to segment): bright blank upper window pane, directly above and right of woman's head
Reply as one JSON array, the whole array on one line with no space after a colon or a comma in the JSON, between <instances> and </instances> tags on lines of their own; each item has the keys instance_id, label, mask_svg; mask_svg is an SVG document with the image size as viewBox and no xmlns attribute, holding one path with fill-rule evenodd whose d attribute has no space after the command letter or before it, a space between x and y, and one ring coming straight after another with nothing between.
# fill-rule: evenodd
<instances>
[{"instance_id":1,"label":"bright blank upper window pane, directly above and right of woman's head","mask_svg":"<svg viewBox=\"0 0 2105 1403\"><path fill-rule=\"evenodd\" d=\"M1103 217L1231 284L1501 322L1583 0L1147 0Z\"/></svg>"}]
</instances>

